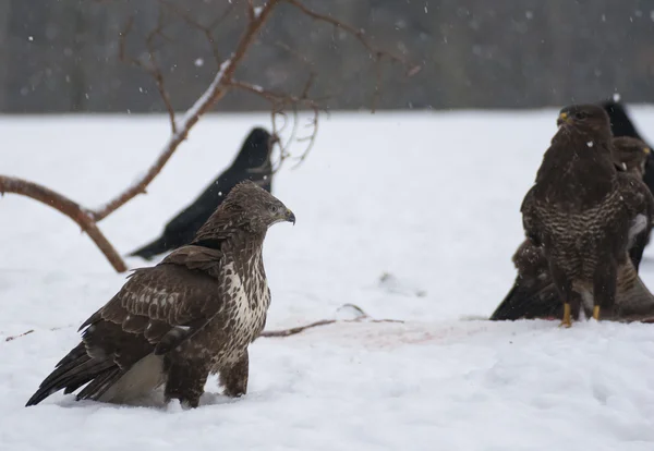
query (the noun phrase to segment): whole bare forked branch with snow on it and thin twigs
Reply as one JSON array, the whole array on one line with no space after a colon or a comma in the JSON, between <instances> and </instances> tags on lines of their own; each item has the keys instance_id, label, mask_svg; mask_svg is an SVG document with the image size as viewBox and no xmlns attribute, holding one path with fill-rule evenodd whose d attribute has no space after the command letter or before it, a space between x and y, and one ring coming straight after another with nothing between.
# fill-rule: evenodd
<instances>
[{"instance_id":1,"label":"whole bare forked branch with snow on it and thin twigs","mask_svg":"<svg viewBox=\"0 0 654 451\"><path fill-rule=\"evenodd\" d=\"M197 123L199 118L207 111L209 111L214 107L214 105L216 105L216 102L219 101L230 89L235 88L249 92L251 94L255 94L270 103L272 134L275 136L280 136L278 129L278 120L283 119L283 127L289 125L292 126L290 133L291 136L288 142L281 143L279 142L280 139L278 139L281 151L279 161L272 168L274 172L276 172L281 167L286 159L291 157L291 154L288 151L288 147L290 146L291 142L296 141L308 143L301 156L295 157L296 164L293 168L296 168L300 163L304 161L308 151L313 147L317 134L318 114L323 110L319 107L319 99L311 98L310 96L310 90L316 78L316 73L311 68L311 63L306 58L299 54L298 52L294 52L292 49L286 46L287 51L290 51L295 58L299 58L310 69L308 77L305 84L302 86L302 89L299 94L293 95L286 93L275 93L255 84L243 81L237 81L233 78L239 64L244 59L245 53L254 42L256 36L259 34L262 27L269 19L272 10L276 7L278 7L281 3L289 3L298 10L300 10L303 14L316 21L330 24L352 35L363 45L363 47L370 52L373 60L376 62L380 61L382 58L387 57L391 61L399 61L403 64L407 64L405 60L402 57L398 57L376 49L365 37L363 31L356 29L353 26L344 24L329 15L317 13L305 7L301 0L268 0L262 7L254 7L254 2L252 0L246 0L245 12L246 16L249 17L249 22L245 25L245 28L233 52L231 53L231 57L227 60L222 60L219 56L218 47L214 38L214 32L216 26L218 26L218 24L222 23L222 21L229 16L231 11L233 10L235 2L233 4L230 4L226 9L223 14L217 17L215 21L213 21L211 24L208 26L203 25L199 21L185 13L182 9L173 5L169 0L159 0L159 2L165 8L169 9L174 14L180 16L190 26L199 29L204 34L209 46L211 47L214 58L216 59L216 62L218 64L218 70L214 80L206 88L204 94L193 103L191 108L189 108L189 110L184 113L183 119L181 121L178 121L177 114L172 107L172 101L166 88L164 76L165 71L161 69L159 59L157 57L157 41L171 41L171 39L165 33L169 24L166 23L162 11L159 10L159 16L156 27L145 36L147 58L130 58L126 51L126 40L128 36L133 29L134 17L130 17L128 20L125 27L121 32L119 38L119 59L123 62L128 62L130 64L141 68L154 78L154 82L157 86L159 95L161 96L170 120L171 132L168 142L164 145L164 148L160 150L156 161L149 167L147 172L143 176L141 176L141 179L137 180L134 184L125 188L122 193L118 194L113 199L110 199L107 204L95 210L84 209L76 203L70 200L69 198L35 183L21 179L0 175L0 193L9 192L22 194L35 198L47 205L50 205L51 207L58 209L62 214L69 216L71 219L73 219L80 224L84 232L86 232L90 236L90 239L96 243L96 245L109 259L113 268L119 272L125 271L126 266L124 265L118 253L114 251L114 248L111 246L109 241L107 241L107 239L99 231L99 229L97 228L97 222L107 218L109 215L122 207L124 204L126 204L129 200L131 200L138 194L145 193L149 183L152 183L153 180L159 174L164 166L169 161L169 159L178 149L180 144L186 139L189 133ZM419 70L420 66L414 66L409 71L409 76L415 74ZM378 85L379 83L377 81L375 86L375 96L377 96L379 93ZM313 117L306 125L308 129L311 129L311 133L307 136L296 137L300 121L300 115L298 112L299 109L308 109L313 112ZM292 117L289 117L289 114L287 113L288 110L292 111Z\"/></svg>"}]
</instances>

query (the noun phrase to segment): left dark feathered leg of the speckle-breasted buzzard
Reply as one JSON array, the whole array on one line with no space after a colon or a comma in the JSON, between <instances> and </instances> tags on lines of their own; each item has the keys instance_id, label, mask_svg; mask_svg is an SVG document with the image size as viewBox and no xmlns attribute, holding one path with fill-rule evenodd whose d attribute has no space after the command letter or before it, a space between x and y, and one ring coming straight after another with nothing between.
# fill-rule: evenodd
<instances>
[{"instance_id":1,"label":"left dark feathered leg of the speckle-breasted buzzard","mask_svg":"<svg viewBox=\"0 0 654 451\"><path fill-rule=\"evenodd\" d=\"M166 402L180 400L182 407L197 407L209 371L202 362L173 362L168 367L164 395Z\"/></svg>"}]
</instances>

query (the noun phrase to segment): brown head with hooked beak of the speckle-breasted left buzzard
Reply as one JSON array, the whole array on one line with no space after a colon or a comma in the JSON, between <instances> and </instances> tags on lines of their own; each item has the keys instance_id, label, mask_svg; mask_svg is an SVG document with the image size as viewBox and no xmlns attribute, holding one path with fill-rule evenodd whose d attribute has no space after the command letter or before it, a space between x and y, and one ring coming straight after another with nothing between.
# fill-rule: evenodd
<instances>
[{"instance_id":1,"label":"brown head with hooked beak of the speckle-breasted left buzzard","mask_svg":"<svg viewBox=\"0 0 654 451\"><path fill-rule=\"evenodd\" d=\"M229 192L225 208L240 211L243 223L254 232L265 232L277 222L295 223L295 215L258 184L244 181Z\"/></svg>"}]
</instances>

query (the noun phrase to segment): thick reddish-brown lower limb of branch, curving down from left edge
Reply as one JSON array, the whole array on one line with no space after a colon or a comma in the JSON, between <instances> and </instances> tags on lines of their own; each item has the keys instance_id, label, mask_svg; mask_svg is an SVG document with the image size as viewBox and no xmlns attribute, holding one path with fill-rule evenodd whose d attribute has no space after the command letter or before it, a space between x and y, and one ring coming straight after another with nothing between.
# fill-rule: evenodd
<instances>
[{"instance_id":1,"label":"thick reddish-brown lower limb of branch, curving down from left edge","mask_svg":"<svg viewBox=\"0 0 654 451\"><path fill-rule=\"evenodd\" d=\"M0 175L0 194L14 193L32 197L46 204L75 221L84 232L94 241L98 248L105 254L113 269L118 272L128 270L124 261L116 252L111 243L98 229L93 218L80 205L39 184L23 179Z\"/></svg>"}]
</instances>

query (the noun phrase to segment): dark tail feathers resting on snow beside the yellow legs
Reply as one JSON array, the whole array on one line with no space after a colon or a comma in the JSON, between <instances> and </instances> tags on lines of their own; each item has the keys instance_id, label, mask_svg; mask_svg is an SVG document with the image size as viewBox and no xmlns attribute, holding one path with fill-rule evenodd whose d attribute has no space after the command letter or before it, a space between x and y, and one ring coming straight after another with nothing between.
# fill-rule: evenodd
<instances>
[{"instance_id":1,"label":"dark tail feathers resting on snow beside the yellow legs","mask_svg":"<svg viewBox=\"0 0 654 451\"><path fill-rule=\"evenodd\" d=\"M513 288L497 306L492 321L512 321L517 319L549 318L562 315L561 305L554 284L525 288L516 280Z\"/></svg>"}]
</instances>

